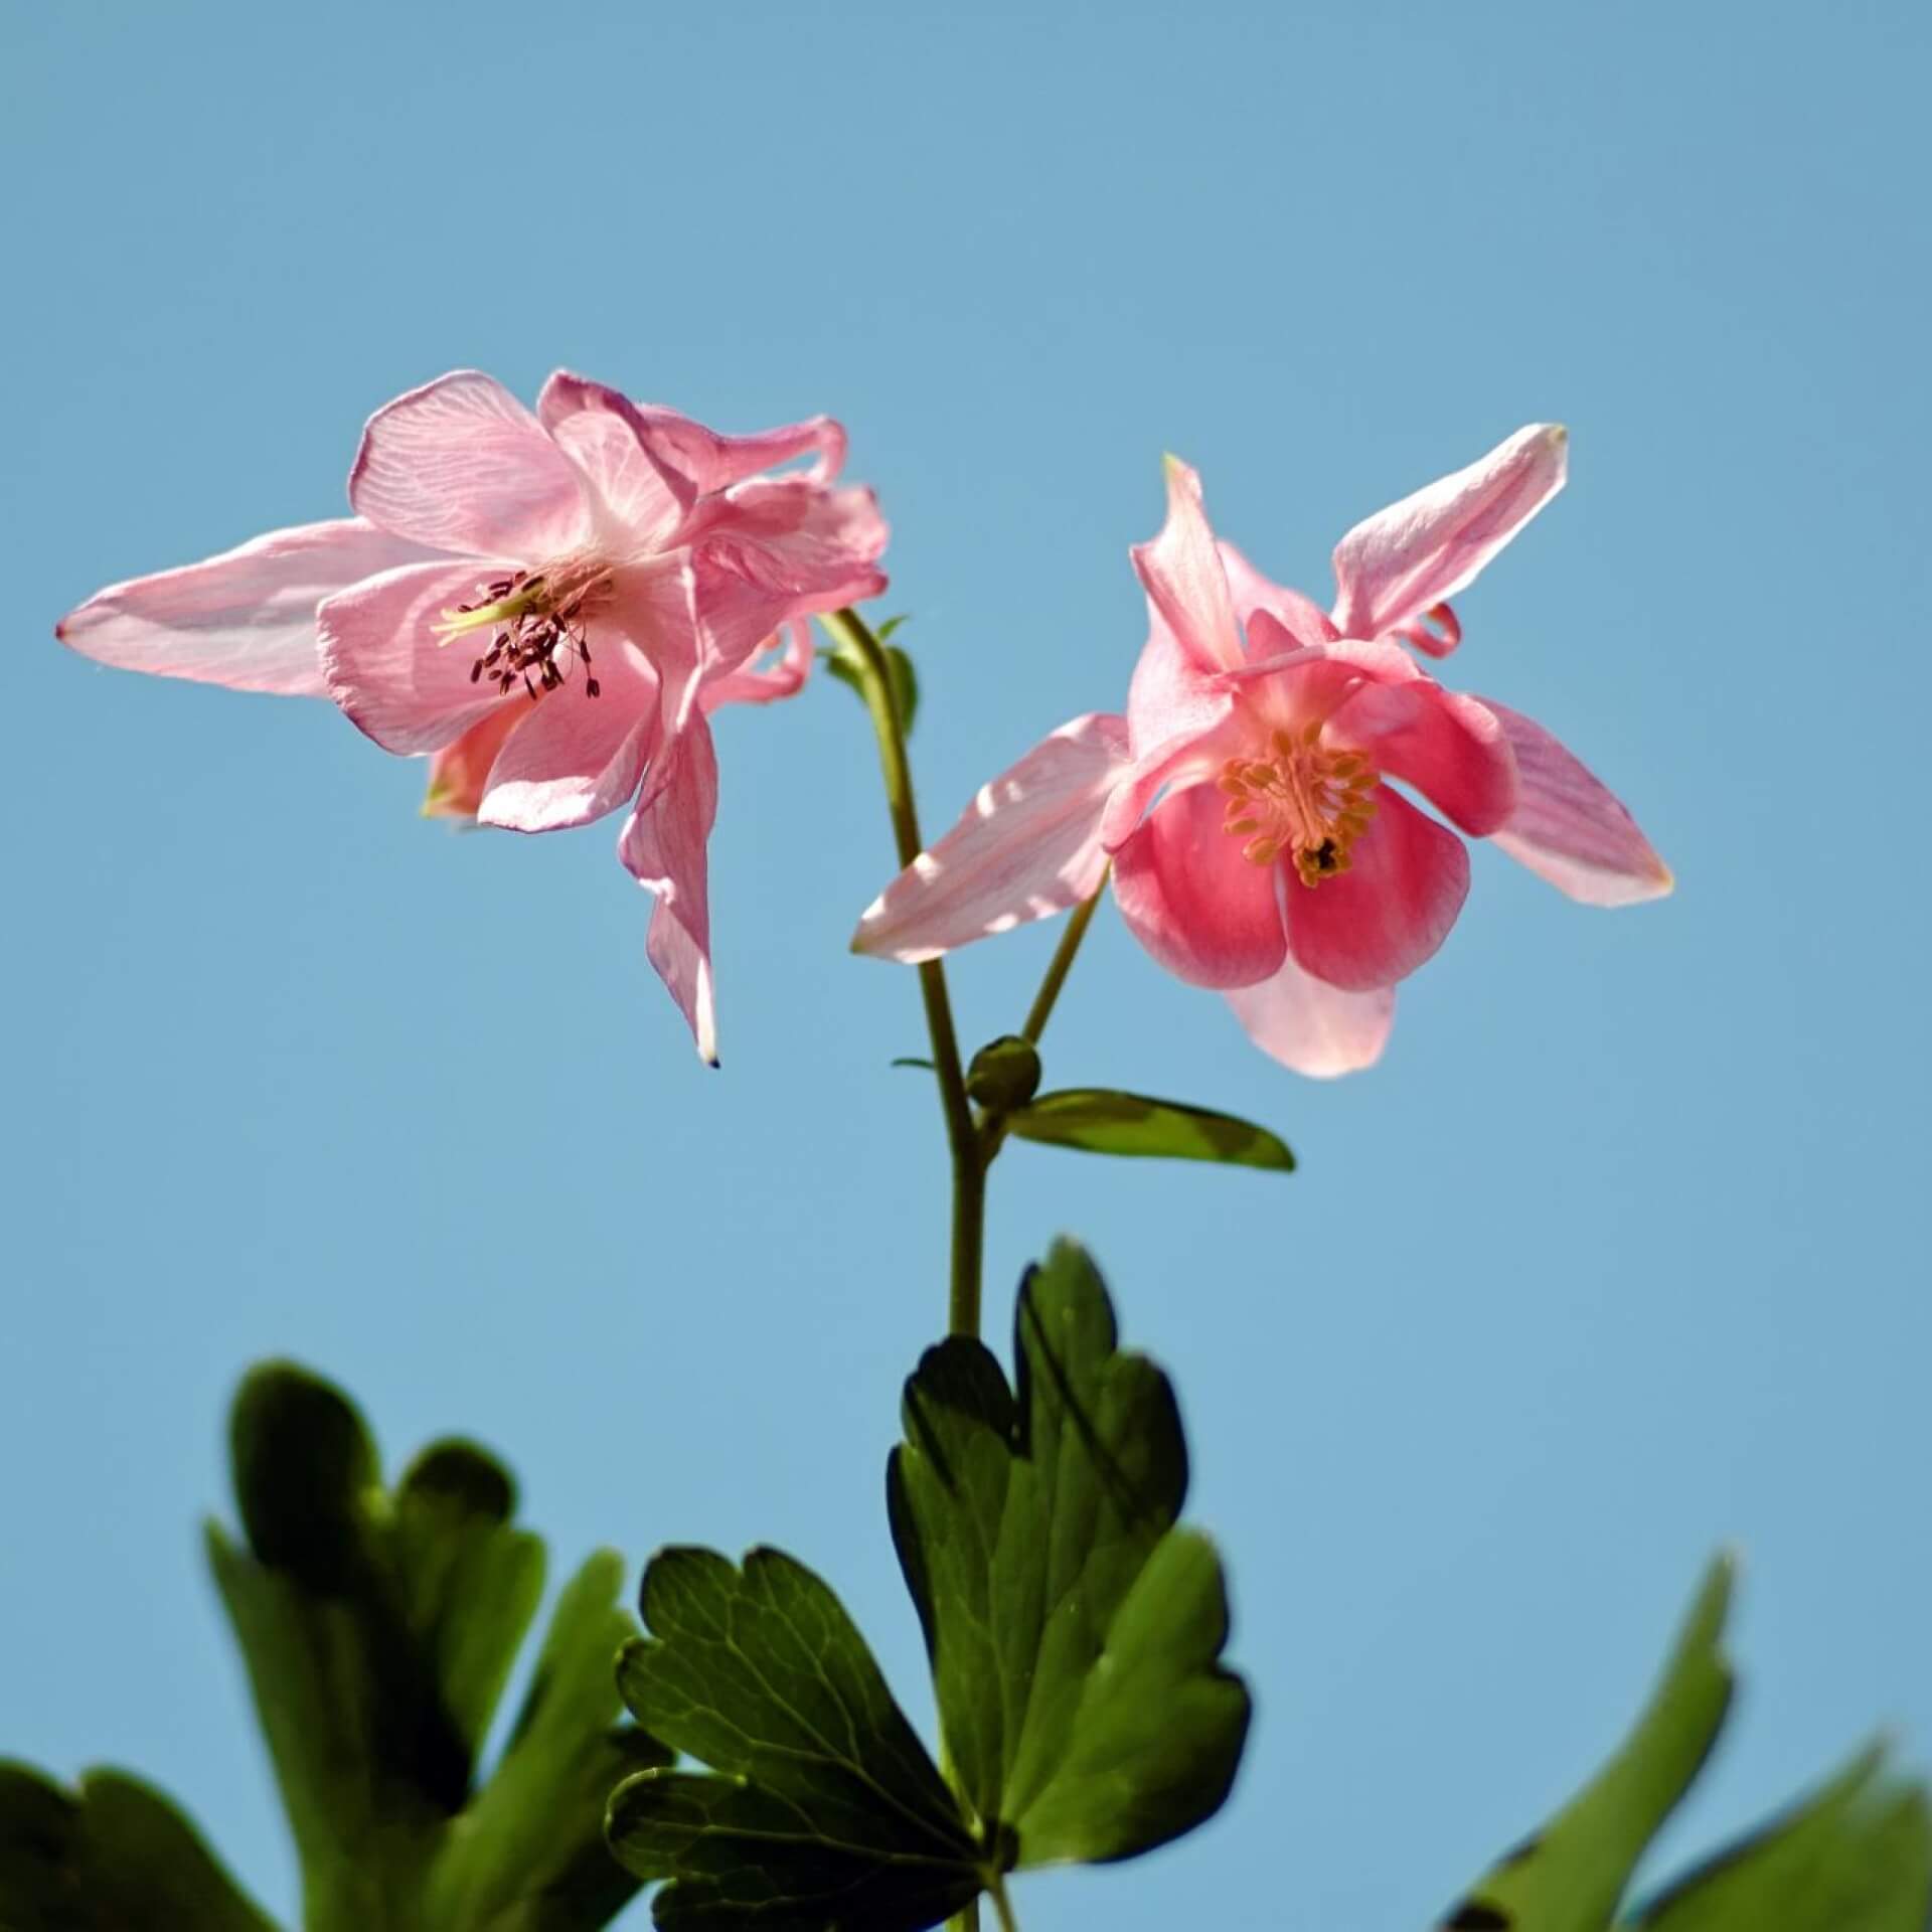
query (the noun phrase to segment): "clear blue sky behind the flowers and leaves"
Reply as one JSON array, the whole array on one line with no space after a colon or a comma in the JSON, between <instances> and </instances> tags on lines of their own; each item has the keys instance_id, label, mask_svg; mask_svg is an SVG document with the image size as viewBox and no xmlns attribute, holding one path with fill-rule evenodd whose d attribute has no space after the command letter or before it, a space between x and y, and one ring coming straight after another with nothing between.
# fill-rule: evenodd
<instances>
[{"instance_id":1,"label":"clear blue sky behind the flowers and leaves","mask_svg":"<svg viewBox=\"0 0 1932 1932\"><path fill-rule=\"evenodd\" d=\"M614 821L454 837L323 703L50 636L336 514L398 390L568 365L846 421L935 833L1121 703L1163 448L1325 595L1358 516L1573 427L1449 676L1596 765L1677 896L1478 852L1339 1086L1109 914L1049 1080L1267 1121L1302 1173L993 1177L995 1325L1076 1231L1173 1370L1260 1698L1223 1816L1024 1880L1028 1932L1428 1922L1613 1741L1719 1542L1747 1698L1675 1851L1880 1721L1924 1764L1928 41L1903 0L6 8L0 1750L155 1776L290 1905L195 1536L269 1352L392 1461L506 1451L558 1571L796 1551L927 1708L881 1464L945 1173L887 1068L914 980L844 951L891 869L850 694L723 724L709 1074ZM1051 939L960 958L970 1039Z\"/></svg>"}]
</instances>

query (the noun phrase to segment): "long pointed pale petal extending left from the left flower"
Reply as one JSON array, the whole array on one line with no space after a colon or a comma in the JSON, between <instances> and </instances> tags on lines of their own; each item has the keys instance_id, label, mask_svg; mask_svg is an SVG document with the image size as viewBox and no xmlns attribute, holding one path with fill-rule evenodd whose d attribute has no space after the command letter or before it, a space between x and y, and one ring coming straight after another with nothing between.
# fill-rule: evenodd
<instances>
[{"instance_id":1,"label":"long pointed pale petal extending left from the left flower","mask_svg":"<svg viewBox=\"0 0 1932 1932\"><path fill-rule=\"evenodd\" d=\"M431 554L361 518L270 529L205 562L110 583L70 611L54 636L124 670L327 697L315 607L332 591Z\"/></svg>"}]
</instances>

